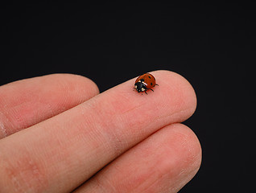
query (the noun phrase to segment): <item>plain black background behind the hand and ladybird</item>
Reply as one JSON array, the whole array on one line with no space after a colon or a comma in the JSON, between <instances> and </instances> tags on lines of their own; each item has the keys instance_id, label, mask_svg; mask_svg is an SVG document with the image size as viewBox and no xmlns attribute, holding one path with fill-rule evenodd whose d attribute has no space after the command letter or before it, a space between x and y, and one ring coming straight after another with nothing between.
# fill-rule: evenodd
<instances>
[{"instance_id":1,"label":"plain black background behind the hand and ladybird","mask_svg":"<svg viewBox=\"0 0 256 193\"><path fill-rule=\"evenodd\" d=\"M246 3L12 2L1 5L0 84L68 72L101 92L143 72L180 73L203 149L180 192L253 192L255 7Z\"/></svg>"}]
</instances>

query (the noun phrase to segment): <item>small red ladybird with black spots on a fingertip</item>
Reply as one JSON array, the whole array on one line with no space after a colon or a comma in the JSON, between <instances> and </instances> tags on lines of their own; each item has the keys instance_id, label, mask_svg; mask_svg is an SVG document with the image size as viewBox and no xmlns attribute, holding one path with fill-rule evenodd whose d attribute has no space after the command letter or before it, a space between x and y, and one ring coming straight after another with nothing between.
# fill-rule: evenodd
<instances>
[{"instance_id":1,"label":"small red ladybird with black spots on a fingertip","mask_svg":"<svg viewBox=\"0 0 256 193\"><path fill-rule=\"evenodd\" d=\"M134 89L137 92L145 92L147 94L147 90L153 91L153 87L155 87L155 77L150 73L143 74L142 76L138 76L137 80L134 84Z\"/></svg>"}]
</instances>

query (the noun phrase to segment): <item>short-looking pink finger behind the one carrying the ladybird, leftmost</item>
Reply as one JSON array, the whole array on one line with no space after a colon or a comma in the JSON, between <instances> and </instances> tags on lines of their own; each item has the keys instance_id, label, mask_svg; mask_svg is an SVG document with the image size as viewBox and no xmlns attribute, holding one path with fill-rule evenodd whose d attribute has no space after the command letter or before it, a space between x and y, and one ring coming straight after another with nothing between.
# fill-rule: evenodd
<instances>
[{"instance_id":1,"label":"short-looking pink finger behind the one carrying the ladybird, leftmost","mask_svg":"<svg viewBox=\"0 0 256 193\"><path fill-rule=\"evenodd\" d=\"M92 80L54 74L0 87L0 138L53 117L97 95Z\"/></svg>"}]
</instances>

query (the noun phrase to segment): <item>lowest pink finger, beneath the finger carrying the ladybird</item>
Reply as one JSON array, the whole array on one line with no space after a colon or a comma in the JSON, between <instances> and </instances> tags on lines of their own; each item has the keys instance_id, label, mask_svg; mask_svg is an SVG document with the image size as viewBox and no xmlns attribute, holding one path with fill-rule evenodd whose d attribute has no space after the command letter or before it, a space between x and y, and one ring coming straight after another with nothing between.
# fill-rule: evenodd
<instances>
[{"instance_id":1,"label":"lowest pink finger, beneath the finger carrying the ladybird","mask_svg":"<svg viewBox=\"0 0 256 193\"><path fill-rule=\"evenodd\" d=\"M167 125L75 192L177 192L196 175L200 162L200 143L192 130Z\"/></svg>"}]
</instances>

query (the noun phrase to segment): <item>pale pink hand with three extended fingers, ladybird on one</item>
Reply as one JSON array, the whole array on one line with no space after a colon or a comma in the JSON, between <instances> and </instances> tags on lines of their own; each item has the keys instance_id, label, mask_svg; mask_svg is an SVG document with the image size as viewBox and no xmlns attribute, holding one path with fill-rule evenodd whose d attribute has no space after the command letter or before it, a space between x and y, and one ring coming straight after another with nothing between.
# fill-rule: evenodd
<instances>
[{"instance_id":1,"label":"pale pink hand with three extended fingers, ladybird on one","mask_svg":"<svg viewBox=\"0 0 256 193\"><path fill-rule=\"evenodd\" d=\"M196 135L180 124L196 109L182 76L150 72L99 94L82 76L57 74L0 87L0 192L177 192L200 167Z\"/></svg>"}]
</instances>

